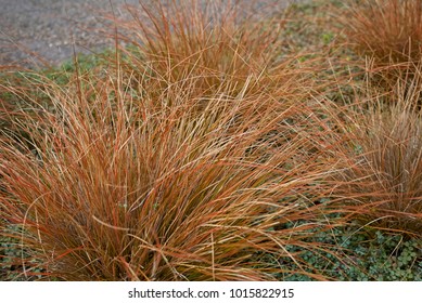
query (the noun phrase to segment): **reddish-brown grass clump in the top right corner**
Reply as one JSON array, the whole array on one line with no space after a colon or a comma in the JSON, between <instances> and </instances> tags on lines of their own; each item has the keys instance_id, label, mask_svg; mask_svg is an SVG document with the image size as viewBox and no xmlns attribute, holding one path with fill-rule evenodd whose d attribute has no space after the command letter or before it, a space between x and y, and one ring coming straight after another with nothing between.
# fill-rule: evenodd
<instances>
[{"instance_id":1,"label":"reddish-brown grass clump in the top right corner","mask_svg":"<svg viewBox=\"0 0 422 303\"><path fill-rule=\"evenodd\" d=\"M378 66L421 62L421 1L354 1L341 22L348 41L361 54L374 56Z\"/></svg>"}]
</instances>

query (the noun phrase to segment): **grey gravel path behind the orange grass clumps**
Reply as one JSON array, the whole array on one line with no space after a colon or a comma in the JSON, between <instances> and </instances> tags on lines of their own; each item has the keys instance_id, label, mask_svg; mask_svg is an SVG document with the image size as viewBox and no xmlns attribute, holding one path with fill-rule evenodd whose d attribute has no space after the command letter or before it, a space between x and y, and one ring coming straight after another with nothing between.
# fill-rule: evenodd
<instances>
[{"instance_id":1,"label":"grey gravel path behind the orange grass clumps","mask_svg":"<svg viewBox=\"0 0 422 303\"><path fill-rule=\"evenodd\" d=\"M113 45L100 34L110 2L117 16L127 13L125 3L139 5L139 0L0 0L0 66L56 65L74 49L89 53ZM285 5L287 0L272 2Z\"/></svg>"}]
</instances>

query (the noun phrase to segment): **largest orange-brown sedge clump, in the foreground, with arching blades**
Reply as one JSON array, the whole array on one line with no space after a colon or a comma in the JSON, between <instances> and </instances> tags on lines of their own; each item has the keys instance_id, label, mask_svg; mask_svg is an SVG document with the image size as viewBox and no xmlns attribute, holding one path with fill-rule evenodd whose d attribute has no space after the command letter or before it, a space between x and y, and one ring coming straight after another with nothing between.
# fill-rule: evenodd
<instances>
[{"instance_id":1,"label":"largest orange-brown sedge clump, in the foreground, with arching blades","mask_svg":"<svg viewBox=\"0 0 422 303\"><path fill-rule=\"evenodd\" d=\"M113 77L76 81L46 84L52 113L22 114L29 145L7 134L0 142L2 215L37 260L21 260L24 275L259 280L271 273L252 262L256 252L318 249L294 228L274 228L315 218L297 200L323 172L286 122L306 107L225 91L190 98L183 85L156 110Z\"/></svg>"}]
</instances>

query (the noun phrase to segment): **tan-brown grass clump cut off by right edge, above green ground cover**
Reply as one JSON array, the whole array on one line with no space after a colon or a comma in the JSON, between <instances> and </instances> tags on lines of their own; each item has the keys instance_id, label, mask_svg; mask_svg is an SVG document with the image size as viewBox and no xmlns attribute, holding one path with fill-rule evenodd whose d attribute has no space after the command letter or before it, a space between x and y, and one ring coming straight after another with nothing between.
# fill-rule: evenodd
<instances>
[{"instance_id":1,"label":"tan-brown grass clump cut off by right edge, above green ground cover","mask_svg":"<svg viewBox=\"0 0 422 303\"><path fill-rule=\"evenodd\" d=\"M422 123L420 84L412 83L370 97L350 116L345 169L333 192L363 225L420 237Z\"/></svg>"}]
</instances>

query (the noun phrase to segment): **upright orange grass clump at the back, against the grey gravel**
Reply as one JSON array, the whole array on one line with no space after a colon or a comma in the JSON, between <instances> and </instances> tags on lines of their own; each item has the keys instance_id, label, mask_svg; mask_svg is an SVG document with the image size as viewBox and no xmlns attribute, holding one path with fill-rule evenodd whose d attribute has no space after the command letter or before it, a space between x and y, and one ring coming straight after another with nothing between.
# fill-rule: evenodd
<instances>
[{"instance_id":1,"label":"upright orange grass clump at the back, against the grey gravel","mask_svg":"<svg viewBox=\"0 0 422 303\"><path fill-rule=\"evenodd\" d=\"M291 78L293 69L285 69L280 53L282 17L252 16L250 5L238 1L157 1L130 12L132 19L117 25L119 39L130 45L127 64L155 85L197 78L200 94L213 95L221 83L236 94L252 76L261 81L247 85L247 92L273 90L280 74L284 81Z\"/></svg>"}]
</instances>

